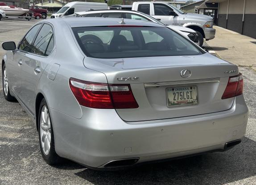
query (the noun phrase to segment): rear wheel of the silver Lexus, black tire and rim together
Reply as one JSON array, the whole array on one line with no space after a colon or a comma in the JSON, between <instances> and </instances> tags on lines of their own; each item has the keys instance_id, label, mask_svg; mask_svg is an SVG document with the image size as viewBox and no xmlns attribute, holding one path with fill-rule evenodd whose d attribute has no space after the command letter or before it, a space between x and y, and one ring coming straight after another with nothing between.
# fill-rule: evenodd
<instances>
[{"instance_id":1,"label":"rear wheel of the silver Lexus, black tire and rim together","mask_svg":"<svg viewBox=\"0 0 256 185\"><path fill-rule=\"evenodd\" d=\"M43 159L49 165L55 165L62 161L55 151L54 130L51 122L50 112L45 98L42 99L38 112L38 136L40 150Z\"/></svg>"}]
</instances>

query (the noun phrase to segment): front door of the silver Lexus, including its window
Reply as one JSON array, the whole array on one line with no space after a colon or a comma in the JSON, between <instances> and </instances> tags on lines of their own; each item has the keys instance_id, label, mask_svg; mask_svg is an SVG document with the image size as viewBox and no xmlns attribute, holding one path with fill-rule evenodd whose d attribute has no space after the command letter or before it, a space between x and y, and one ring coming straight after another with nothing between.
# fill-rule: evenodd
<instances>
[{"instance_id":1,"label":"front door of the silver Lexus, including its window","mask_svg":"<svg viewBox=\"0 0 256 185\"><path fill-rule=\"evenodd\" d=\"M21 93L21 66L24 62L24 56L27 52L30 52L31 44L40 27L41 24L37 24L27 32L13 54L12 62L8 63L8 80L12 87L11 90L18 98Z\"/></svg>"}]
</instances>

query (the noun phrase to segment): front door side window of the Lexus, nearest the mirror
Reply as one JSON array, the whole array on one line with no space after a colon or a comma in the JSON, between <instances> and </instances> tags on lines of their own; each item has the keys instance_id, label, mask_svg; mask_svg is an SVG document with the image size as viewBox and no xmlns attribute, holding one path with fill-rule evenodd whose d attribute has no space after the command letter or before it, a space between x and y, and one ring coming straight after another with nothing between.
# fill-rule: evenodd
<instances>
[{"instance_id":1,"label":"front door side window of the Lexus, nearest the mirror","mask_svg":"<svg viewBox=\"0 0 256 185\"><path fill-rule=\"evenodd\" d=\"M20 50L25 52L31 52L31 44L40 27L41 27L41 24L37 24L27 33L27 35L21 41L21 44L19 46Z\"/></svg>"}]
</instances>

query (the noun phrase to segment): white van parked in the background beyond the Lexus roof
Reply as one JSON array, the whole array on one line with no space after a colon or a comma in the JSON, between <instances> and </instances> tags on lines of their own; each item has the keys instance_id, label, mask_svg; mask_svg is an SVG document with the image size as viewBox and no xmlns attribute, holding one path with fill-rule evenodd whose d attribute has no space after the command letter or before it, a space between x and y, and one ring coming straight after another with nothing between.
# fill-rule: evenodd
<instances>
[{"instance_id":1,"label":"white van parked in the background beyond the Lexus roof","mask_svg":"<svg viewBox=\"0 0 256 185\"><path fill-rule=\"evenodd\" d=\"M63 6L57 13L51 15L51 18L75 17L75 12L84 12L88 10L106 10L107 3L78 2L74 1Z\"/></svg>"}]
</instances>

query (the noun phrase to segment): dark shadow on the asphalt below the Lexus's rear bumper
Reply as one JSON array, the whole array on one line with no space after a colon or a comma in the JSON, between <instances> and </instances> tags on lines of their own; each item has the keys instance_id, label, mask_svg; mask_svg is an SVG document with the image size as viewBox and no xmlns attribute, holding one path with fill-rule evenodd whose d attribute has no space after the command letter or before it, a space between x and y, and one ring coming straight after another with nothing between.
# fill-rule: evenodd
<instances>
[{"instance_id":1,"label":"dark shadow on the asphalt below the Lexus's rear bumper","mask_svg":"<svg viewBox=\"0 0 256 185\"><path fill-rule=\"evenodd\" d=\"M244 137L242 144L224 153L147 164L123 171L85 169L75 174L95 185L223 185L256 175L256 142Z\"/></svg>"}]
</instances>

